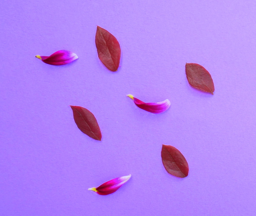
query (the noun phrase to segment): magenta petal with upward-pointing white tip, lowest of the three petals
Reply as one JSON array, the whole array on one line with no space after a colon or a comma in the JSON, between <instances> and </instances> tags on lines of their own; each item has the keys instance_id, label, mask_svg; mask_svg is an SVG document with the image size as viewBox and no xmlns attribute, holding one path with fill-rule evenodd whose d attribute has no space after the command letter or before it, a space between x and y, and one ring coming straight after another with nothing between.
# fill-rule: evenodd
<instances>
[{"instance_id":1,"label":"magenta petal with upward-pointing white tip, lowest of the three petals","mask_svg":"<svg viewBox=\"0 0 256 216\"><path fill-rule=\"evenodd\" d=\"M130 178L131 174L119 178L114 178L110 181L101 184L99 187L92 187L89 188L88 190L93 190L100 195L108 195L117 191Z\"/></svg>"}]
</instances>

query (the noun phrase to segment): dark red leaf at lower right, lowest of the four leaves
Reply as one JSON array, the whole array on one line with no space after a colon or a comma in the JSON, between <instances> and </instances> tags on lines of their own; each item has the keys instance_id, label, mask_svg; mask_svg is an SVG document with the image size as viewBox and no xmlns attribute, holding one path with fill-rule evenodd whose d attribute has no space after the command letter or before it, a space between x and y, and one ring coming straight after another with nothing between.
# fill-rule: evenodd
<instances>
[{"instance_id":1,"label":"dark red leaf at lower right, lowest of the four leaves","mask_svg":"<svg viewBox=\"0 0 256 216\"><path fill-rule=\"evenodd\" d=\"M185 178L189 175L189 165L181 152L171 145L163 145L161 151L164 168L172 175Z\"/></svg>"}]
</instances>

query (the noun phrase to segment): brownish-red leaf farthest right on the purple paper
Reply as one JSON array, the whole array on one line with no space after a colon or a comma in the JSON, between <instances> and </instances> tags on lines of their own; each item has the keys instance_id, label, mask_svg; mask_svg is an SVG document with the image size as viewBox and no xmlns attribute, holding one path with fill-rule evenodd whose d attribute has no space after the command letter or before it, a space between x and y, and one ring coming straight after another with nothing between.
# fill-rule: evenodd
<instances>
[{"instance_id":1,"label":"brownish-red leaf farthest right on the purple paper","mask_svg":"<svg viewBox=\"0 0 256 216\"><path fill-rule=\"evenodd\" d=\"M214 84L211 74L203 66L196 63L186 63L186 75L192 87L213 94Z\"/></svg>"}]
</instances>

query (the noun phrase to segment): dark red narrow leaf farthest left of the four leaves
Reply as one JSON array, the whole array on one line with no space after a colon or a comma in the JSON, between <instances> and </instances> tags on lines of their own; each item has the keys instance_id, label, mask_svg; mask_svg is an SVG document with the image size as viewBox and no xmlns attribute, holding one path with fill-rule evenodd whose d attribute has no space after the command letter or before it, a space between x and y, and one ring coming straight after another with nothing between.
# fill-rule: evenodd
<instances>
[{"instance_id":1,"label":"dark red narrow leaf farthest left of the four leaves","mask_svg":"<svg viewBox=\"0 0 256 216\"><path fill-rule=\"evenodd\" d=\"M101 140L101 130L95 116L86 108L70 106L77 127L89 137Z\"/></svg>"}]
</instances>

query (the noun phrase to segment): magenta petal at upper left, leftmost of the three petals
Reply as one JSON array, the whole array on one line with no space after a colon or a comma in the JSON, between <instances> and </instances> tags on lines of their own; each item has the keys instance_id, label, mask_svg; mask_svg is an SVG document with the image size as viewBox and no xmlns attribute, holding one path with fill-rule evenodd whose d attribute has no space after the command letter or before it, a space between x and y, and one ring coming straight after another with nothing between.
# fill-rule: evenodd
<instances>
[{"instance_id":1,"label":"magenta petal at upper left, leftmost of the three petals","mask_svg":"<svg viewBox=\"0 0 256 216\"><path fill-rule=\"evenodd\" d=\"M36 55L36 58L49 65L65 65L78 59L78 56L69 50L59 50L50 56Z\"/></svg>"}]
</instances>

